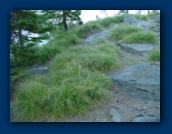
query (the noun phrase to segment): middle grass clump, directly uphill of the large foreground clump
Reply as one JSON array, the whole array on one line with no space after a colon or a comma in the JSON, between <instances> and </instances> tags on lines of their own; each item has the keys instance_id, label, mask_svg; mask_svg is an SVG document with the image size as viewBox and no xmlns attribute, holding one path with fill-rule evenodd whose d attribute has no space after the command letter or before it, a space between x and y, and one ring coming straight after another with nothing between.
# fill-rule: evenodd
<instances>
[{"instance_id":1,"label":"middle grass clump, directly uphill of the large foreground clump","mask_svg":"<svg viewBox=\"0 0 172 134\"><path fill-rule=\"evenodd\" d=\"M119 67L117 54L116 47L108 43L78 46L59 55L55 62L58 62L58 66L62 67L65 63L74 60L92 71L107 72Z\"/></svg>"}]
</instances>

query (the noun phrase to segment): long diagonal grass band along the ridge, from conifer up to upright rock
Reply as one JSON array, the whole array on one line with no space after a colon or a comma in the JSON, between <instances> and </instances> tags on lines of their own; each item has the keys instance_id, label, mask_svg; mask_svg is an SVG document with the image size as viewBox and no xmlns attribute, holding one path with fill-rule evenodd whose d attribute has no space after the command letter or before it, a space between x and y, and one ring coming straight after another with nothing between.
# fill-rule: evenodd
<instances>
[{"instance_id":1,"label":"long diagonal grass band along the ridge, from conifer up to upright rock","mask_svg":"<svg viewBox=\"0 0 172 134\"><path fill-rule=\"evenodd\" d=\"M122 21L123 16L109 17L101 21L90 21L84 25L69 28L67 32L56 30L53 40L48 44L42 47L34 46L29 51L17 56L17 58L10 53L11 59L14 59L10 59L10 82L13 83L15 80L23 77L21 71L18 71L19 69L22 70L27 66L45 63L64 49L80 43L79 37L84 37L94 30L102 30L103 27L108 26L110 23L119 23ZM19 69L16 70L16 68Z\"/></svg>"}]
</instances>

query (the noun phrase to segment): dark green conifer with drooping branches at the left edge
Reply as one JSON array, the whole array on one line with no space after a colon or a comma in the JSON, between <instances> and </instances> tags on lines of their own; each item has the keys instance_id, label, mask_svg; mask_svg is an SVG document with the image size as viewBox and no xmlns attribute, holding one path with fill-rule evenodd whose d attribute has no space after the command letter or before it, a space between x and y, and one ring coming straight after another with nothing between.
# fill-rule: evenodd
<instances>
[{"instance_id":1,"label":"dark green conifer with drooping branches at the left edge","mask_svg":"<svg viewBox=\"0 0 172 134\"><path fill-rule=\"evenodd\" d=\"M33 10L11 10L10 12L10 67L27 66L36 55L32 47L48 39L47 32L53 29L44 15ZM37 34L37 37L30 36Z\"/></svg>"}]
</instances>

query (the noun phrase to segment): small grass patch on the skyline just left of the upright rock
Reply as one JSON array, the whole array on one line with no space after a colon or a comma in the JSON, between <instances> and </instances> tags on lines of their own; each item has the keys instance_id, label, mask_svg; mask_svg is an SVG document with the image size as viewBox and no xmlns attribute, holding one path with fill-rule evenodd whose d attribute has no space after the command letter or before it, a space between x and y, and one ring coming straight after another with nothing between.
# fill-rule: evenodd
<instances>
[{"instance_id":1,"label":"small grass patch on the skyline just left of the upright rock","mask_svg":"<svg viewBox=\"0 0 172 134\"><path fill-rule=\"evenodd\" d=\"M112 23L121 23L124 21L124 15L115 16L115 17L106 17L104 19L97 20L97 23L103 27L108 27Z\"/></svg>"}]
</instances>

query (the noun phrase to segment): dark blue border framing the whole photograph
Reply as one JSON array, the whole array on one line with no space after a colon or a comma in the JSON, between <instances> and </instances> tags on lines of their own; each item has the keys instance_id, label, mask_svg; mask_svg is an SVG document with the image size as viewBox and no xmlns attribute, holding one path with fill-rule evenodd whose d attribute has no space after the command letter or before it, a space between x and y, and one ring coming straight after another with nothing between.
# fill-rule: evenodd
<instances>
[{"instance_id":1,"label":"dark blue border framing the whole photograph","mask_svg":"<svg viewBox=\"0 0 172 134\"><path fill-rule=\"evenodd\" d=\"M2 0L0 4L0 131L4 133L166 133L172 132L171 4L166 0ZM11 9L161 10L161 122L160 123L10 123L9 11ZM168 45L169 44L169 45Z\"/></svg>"}]
</instances>

